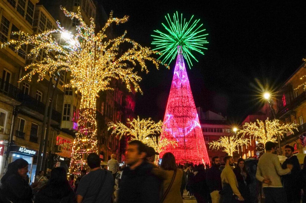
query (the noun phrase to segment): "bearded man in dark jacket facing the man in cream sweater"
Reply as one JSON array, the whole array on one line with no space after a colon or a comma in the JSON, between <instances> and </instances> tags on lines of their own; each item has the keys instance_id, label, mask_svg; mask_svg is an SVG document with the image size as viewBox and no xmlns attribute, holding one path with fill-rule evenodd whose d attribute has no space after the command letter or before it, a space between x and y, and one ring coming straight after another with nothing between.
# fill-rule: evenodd
<instances>
[{"instance_id":1,"label":"bearded man in dark jacket facing the man in cream sweater","mask_svg":"<svg viewBox=\"0 0 306 203\"><path fill-rule=\"evenodd\" d=\"M293 169L291 174L282 176L282 184L287 194L287 200L289 203L300 202L301 191L298 183L298 176L300 172L300 163L297 156L293 156L294 148L290 145L285 146L285 156L287 159L282 164L282 169L287 168L287 164L292 164Z\"/></svg>"}]
</instances>

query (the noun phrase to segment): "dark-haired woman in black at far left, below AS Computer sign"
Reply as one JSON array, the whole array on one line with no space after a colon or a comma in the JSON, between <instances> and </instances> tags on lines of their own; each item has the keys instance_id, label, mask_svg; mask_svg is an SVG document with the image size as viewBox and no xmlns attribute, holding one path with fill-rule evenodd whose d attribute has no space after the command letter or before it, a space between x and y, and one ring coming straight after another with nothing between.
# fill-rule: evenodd
<instances>
[{"instance_id":1,"label":"dark-haired woman in black at far left, below AS Computer sign","mask_svg":"<svg viewBox=\"0 0 306 203\"><path fill-rule=\"evenodd\" d=\"M1 198L4 202L32 203L32 189L38 183L29 186L27 173L29 164L24 159L16 159L7 167L1 179Z\"/></svg>"}]
</instances>

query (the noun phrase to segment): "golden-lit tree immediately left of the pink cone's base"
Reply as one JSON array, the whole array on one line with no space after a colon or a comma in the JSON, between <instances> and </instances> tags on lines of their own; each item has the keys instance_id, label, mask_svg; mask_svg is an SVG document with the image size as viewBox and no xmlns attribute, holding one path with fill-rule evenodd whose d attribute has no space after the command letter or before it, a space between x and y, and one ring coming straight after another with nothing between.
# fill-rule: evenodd
<instances>
[{"instance_id":1,"label":"golden-lit tree immediately left of the pink cone's base","mask_svg":"<svg viewBox=\"0 0 306 203\"><path fill-rule=\"evenodd\" d=\"M129 136L132 140L139 140L147 146L153 147L157 152L160 152L164 147L172 145L177 146L177 142L173 140L163 139L159 140L159 135L162 131L162 121L158 123L149 119L140 120L139 116L137 119L132 121L127 119L127 125L118 123L109 123L109 130L113 128L112 135L119 136L121 139L123 136Z\"/></svg>"}]
</instances>

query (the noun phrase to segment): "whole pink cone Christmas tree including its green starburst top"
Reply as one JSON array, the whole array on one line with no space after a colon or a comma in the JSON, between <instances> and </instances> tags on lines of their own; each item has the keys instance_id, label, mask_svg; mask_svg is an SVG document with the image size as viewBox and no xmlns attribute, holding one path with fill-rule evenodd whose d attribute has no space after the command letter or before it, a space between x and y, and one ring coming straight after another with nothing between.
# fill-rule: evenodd
<instances>
[{"instance_id":1,"label":"whole pink cone Christmas tree including its green starburst top","mask_svg":"<svg viewBox=\"0 0 306 203\"><path fill-rule=\"evenodd\" d=\"M161 50L163 62L167 62L168 59L171 61L176 53L178 54L161 133L161 140L166 138L177 141L178 146L164 147L160 157L166 152L171 152L176 162L181 164L210 163L184 63L185 57L188 64L192 65L190 58L195 57L191 51L203 54L200 49L205 49L203 44L208 43L204 37L207 34L197 35L204 30L199 30L202 25L196 28L199 20L190 25L191 19L187 22L181 15L179 20L176 13L172 22L168 14L166 20L169 28L164 24L163 26L170 35L156 30L159 36L153 35L155 41L152 43L157 45L157 50Z\"/></svg>"}]
</instances>

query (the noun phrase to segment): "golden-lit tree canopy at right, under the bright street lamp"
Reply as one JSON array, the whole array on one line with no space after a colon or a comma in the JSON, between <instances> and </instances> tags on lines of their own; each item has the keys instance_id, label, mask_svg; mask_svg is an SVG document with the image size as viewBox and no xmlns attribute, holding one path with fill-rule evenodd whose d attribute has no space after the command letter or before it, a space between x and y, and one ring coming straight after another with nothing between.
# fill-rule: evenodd
<instances>
[{"instance_id":1,"label":"golden-lit tree canopy at right, under the bright street lamp","mask_svg":"<svg viewBox=\"0 0 306 203\"><path fill-rule=\"evenodd\" d=\"M287 132L292 132L293 129L297 130L297 124L280 124L279 120L256 120L256 122L245 123L239 134L243 136L250 136L258 143L265 144L268 141L276 142L277 136L280 138Z\"/></svg>"}]
</instances>

